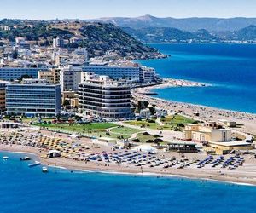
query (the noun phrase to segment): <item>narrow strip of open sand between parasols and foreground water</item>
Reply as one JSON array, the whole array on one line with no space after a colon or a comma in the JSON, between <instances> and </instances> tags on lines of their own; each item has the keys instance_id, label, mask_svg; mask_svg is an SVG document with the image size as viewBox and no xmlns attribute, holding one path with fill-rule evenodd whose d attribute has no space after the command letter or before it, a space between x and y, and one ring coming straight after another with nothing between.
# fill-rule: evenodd
<instances>
[{"instance_id":1,"label":"narrow strip of open sand between parasols and foreground water","mask_svg":"<svg viewBox=\"0 0 256 213\"><path fill-rule=\"evenodd\" d=\"M172 172L164 172L164 171L158 171L158 170L144 170L143 172L140 172L140 170L137 170L136 168L125 168L122 166L117 166L116 168L104 168L101 166L97 166L96 164L92 165L86 165L82 162L76 162L70 159L65 158L49 158L44 159L40 158L40 153L36 148L34 147L13 147L9 145L1 145L0 147L1 152L7 152L7 153L27 153L32 154L35 156L35 158L39 159L41 164L45 166L49 166L52 168L59 168L62 170L70 170L71 172L73 170L81 171L81 172L95 172L95 173L108 173L113 175L129 175L129 176L156 176L157 178L166 177L180 177L195 181L218 181L222 183L229 183L229 184L236 184L236 185L242 185L242 186L250 186L250 187L256 187L256 179L248 178L248 177L240 177L240 179L237 176L221 176L218 174L218 176L215 174L215 176L210 172L205 172L204 170L197 170L201 171L200 174L198 172L195 172L195 170L190 169L183 169L183 170L172 170ZM96 168L98 167L98 168ZM190 170L190 171L189 171ZM242 180L241 180L242 179Z\"/></svg>"}]
</instances>

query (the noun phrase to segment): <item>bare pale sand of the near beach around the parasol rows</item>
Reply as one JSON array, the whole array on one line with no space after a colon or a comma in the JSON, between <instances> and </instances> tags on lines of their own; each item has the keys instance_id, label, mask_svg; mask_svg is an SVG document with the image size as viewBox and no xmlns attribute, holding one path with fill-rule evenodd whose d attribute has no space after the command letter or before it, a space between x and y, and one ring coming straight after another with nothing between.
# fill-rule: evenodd
<instances>
[{"instance_id":1,"label":"bare pale sand of the near beach around the parasol rows","mask_svg":"<svg viewBox=\"0 0 256 213\"><path fill-rule=\"evenodd\" d=\"M34 135L34 130L26 130L26 133L22 133L28 137ZM3 134L3 133L2 133ZM14 134L14 132L13 132ZM8 135L8 134L7 134ZM58 138L62 137L62 140L67 142L67 145L73 144L73 140L71 140L68 135L65 134L55 134L49 131L41 131L40 135L44 135L45 137L53 137ZM20 137L23 138L23 137ZM15 137L17 140L17 137ZM20 139L22 142L23 139ZM33 140L33 139L32 139ZM19 141L19 140L18 140ZM26 141L24 141L27 143ZM111 153L111 155L119 154L127 152L127 153L137 153L142 154L141 152L135 152L128 150L115 150L108 146L108 144L97 143L96 141L90 140L88 138L81 138L76 141L79 144L79 147L86 146L86 149L79 148L75 153L71 151L70 158L63 156L61 158L40 158L44 156L50 149L53 147L43 147L42 145L38 145L35 143L33 145L19 145L16 142L1 142L0 150L1 151L9 151L9 152L22 152L24 153L33 153L37 156L37 158L41 161L42 164L48 166L57 166L61 168L66 168L68 170L84 170L84 171L94 171L94 172L108 172L108 173L120 173L120 174L131 174L131 175L144 175L144 176L184 176L188 178L195 179L209 179L216 181L229 181L229 182L237 182L237 183L247 183L256 185L256 159L253 158L252 155L244 155L244 164L236 168L236 170L230 170L229 168L221 168L215 167L212 168L210 165L207 165L204 168L197 168L196 164L192 164L190 166L186 166L183 169L179 169L180 165L183 165L182 162L195 162L195 159L202 160L207 158L206 153L176 153L176 152L163 152L159 150L158 153L154 155L154 157L150 156L150 158L161 159L164 158L163 161L166 161L171 158L175 158L175 165L169 168L163 168L163 166L154 166L153 168L148 165L137 166L136 164L127 164L127 162L116 162L116 161L97 161L97 160L84 160L84 158L79 158L81 156L79 153L84 153L90 156L92 153L97 153L98 155L104 153ZM149 158L147 156L147 158ZM214 158L218 158L218 156L214 156ZM225 155L225 159L230 158L230 155ZM154 161L153 159L153 161ZM160 162L160 161L159 161ZM170 161L171 162L171 161ZM169 163L170 164L170 163ZM174 164L174 163L173 163Z\"/></svg>"}]
</instances>

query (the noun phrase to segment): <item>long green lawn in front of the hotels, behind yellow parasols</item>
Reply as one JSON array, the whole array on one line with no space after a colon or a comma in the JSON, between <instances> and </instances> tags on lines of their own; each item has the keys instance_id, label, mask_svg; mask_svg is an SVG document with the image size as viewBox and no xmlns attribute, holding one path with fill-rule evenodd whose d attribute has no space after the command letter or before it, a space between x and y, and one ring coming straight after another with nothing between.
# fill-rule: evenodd
<instances>
[{"instance_id":1,"label":"long green lawn in front of the hotels, behind yellow parasols","mask_svg":"<svg viewBox=\"0 0 256 213\"><path fill-rule=\"evenodd\" d=\"M91 124L34 124L49 130L64 131L95 137L109 137L113 139L130 138L132 134L139 130L120 127L112 123L91 123ZM111 128L111 129L110 129ZM108 130L110 129L110 130Z\"/></svg>"}]
</instances>

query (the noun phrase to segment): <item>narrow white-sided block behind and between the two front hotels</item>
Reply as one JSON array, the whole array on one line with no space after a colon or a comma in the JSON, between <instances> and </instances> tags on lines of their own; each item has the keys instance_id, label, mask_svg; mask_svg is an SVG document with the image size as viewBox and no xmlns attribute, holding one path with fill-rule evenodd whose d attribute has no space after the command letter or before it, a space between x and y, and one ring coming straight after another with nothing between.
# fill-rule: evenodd
<instances>
[{"instance_id":1,"label":"narrow white-sided block behind and between the two front hotels","mask_svg":"<svg viewBox=\"0 0 256 213\"><path fill-rule=\"evenodd\" d=\"M80 66L61 67L60 82L61 91L78 91L81 83L82 68Z\"/></svg>"}]
</instances>

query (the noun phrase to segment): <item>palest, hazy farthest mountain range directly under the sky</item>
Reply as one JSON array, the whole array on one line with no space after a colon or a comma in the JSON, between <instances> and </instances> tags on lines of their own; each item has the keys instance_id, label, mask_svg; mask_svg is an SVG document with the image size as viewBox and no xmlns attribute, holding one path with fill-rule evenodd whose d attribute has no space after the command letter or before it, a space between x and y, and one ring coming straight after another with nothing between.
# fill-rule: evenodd
<instances>
[{"instance_id":1,"label":"palest, hazy farthest mountain range directly under the sky","mask_svg":"<svg viewBox=\"0 0 256 213\"><path fill-rule=\"evenodd\" d=\"M100 18L97 20L90 20L97 22L112 23L116 26L131 27L131 28L148 28L148 27L170 27L177 28L183 31L196 32L201 29L205 29L209 32L233 32L238 31L241 28L256 25L256 18L158 18L152 15L144 15L136 18Z\"/></svg>"}]
</instances>

